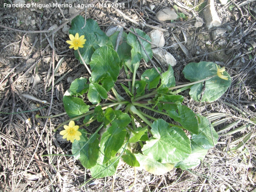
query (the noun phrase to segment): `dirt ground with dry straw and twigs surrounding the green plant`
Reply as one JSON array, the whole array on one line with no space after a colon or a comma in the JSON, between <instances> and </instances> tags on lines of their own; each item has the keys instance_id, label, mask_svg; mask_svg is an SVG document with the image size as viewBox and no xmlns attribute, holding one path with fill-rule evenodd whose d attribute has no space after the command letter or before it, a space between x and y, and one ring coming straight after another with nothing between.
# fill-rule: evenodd
<instances>
[{"instance_id":1,"label":"dirt ground with dry straw and twigs surrounding the green plant","mask_svg":"<svg viewBox=\"0 0 256 192\"><path fill-rule=\"evenodd\" d=\"M29 4L56 2L26 1ZM89 2L65 1L67 4ZM177 83L186 81L182 70L189 62L212 61L225 66L232 77L232 85L219 100L198 103L185 92L185 104L200 115L206 116L207 112L225 114L222 117L227 119L215 124L216 131L224 126L229 126L227 130L238 129L243 125L245 128L220 136L216 147L209 150L195 169L173 169L162 176L137 170L136 185L130 189L134 170L123 163L119 164L115 177L92 180L90 184L79 188L91 178L90 171L85 170L79 161L68 156L42 157L43 154L71 154L70 143L62 139L59 131L53 132L60 123L69 119L68 116L49 120L35 118L37 113L49 116L65 112L62 98L70 83L81 76L89 77L84 66L75 59L74 51L68 49L67 31L61 27L54 38L47 31L54 25L58 29L77 11L52 7L6 8L4 3L10 4L11 0L0 0L0 191L112 191L112 187L113 191L145 192L255 190L255 133L238 150L227 150L227 147L239 138L238 141L245 141L243 136L255 132L256 1L232 0L223 5L216 0L215 7L222 20L221 28L227 30L217 40L212 39L214 28L207 30L205 23L202 27L194 26L196 18L193 13L204 17L204 0L118 0L118 3L124 3L124 7L99 7L99 4L111 2L96 1L94 8L86 10L86 18L96 20L103 31L116 25L108 16L125 23L127 28L140 28L146 33L153 27L164 29L164 48L177 60L173 67ZM247 3L241 5L243 2ZM151 10L149 5L155 5L155 8ZM184 18L173 22L156 19L156 12L173 8L174 5L179 7L178 13L184 13ZM85 17L85 11L80 15ZM71 23L67 25L71 26ZM46 32L38 32L40 30ZM188 55L180 49L172 33L187 48ZM52 40L55 46L55 67L58 62L61 63L54 76L53 89ZM164 66L158 65L162 71L166 70ZM142 73L152 67L150 62L140 63L139 71ZM120 75L118 79L122 82L123 77ZM43 104L42 100L47 103ZM52 108L49 111L50 102ZM33 109L38 110L30 111ZM96 126L92 123L87 129L92 131Z\"/></svg>"}]
</instances>

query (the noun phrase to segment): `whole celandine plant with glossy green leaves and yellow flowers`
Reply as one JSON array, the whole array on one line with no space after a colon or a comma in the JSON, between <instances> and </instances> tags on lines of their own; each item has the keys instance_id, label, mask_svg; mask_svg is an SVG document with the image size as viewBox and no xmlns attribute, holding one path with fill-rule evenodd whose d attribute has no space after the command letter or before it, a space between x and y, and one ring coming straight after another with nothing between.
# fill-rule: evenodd
<instances>
[{"instance_id":1,"label":"whole celandine plant with glossy green leaves and yellow flowers","mask_svg":"<svg viewBox=\"0 0 256 192\"><path fill-rule=\"evenodd\" d=\"M179 86L175 86L171 66L164 73L157 68L160 74L155 68L148 69L140 81L136 81L140 60L148 62L148 57L153 55L147 41L139 41L131 32L116 32L108 37L92 19L86 20L83 28L82 16L77 16L71 24L67 43L69 48L74 48L76 58L86 66L91 77L89 83L83 77L71 83L69 95L63 97L70 120L56 130L69 123L60 134L72 142L73 156L90 169L92 177L115 174L120 158L132 167L157 175L173 167L184 170L199 165L208 149L216 145L218 134L206 117L182 105L184 97L178 93L190 89L189 95L199 102L219 99L231 84L225 68L212 62L189 63L182 72L191 83ZM132 31L150 41L140 29ZM125 96L120 96L114 88L122 67L127 79L132 74L131 82L120 83ZM148 94L145 94L146 89ZM114 96L108 94L110 90ZM92 103L90 106L84 103L86 93ZM156 119L144 113L144 109L167 116L172 123ZM84 124L78 129L74 121L81 118ZM83 127L94 121L101 124L89 134ZM99 131L103 127L107 129L100 138ZM138 146L132 148L135 146L132 143Z\"/></svg>"}]
</instances>

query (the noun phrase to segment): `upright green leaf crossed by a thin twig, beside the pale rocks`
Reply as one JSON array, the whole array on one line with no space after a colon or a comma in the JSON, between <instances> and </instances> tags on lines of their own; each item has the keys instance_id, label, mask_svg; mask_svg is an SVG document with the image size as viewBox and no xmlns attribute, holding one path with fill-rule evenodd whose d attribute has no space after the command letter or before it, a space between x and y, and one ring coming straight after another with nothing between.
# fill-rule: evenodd
<instances>
[{"instance_id":1,"label":"upright green leaf crossed by a thin twig, beside the pale rocks","mask_svg":"<svg viewBox=\"0 0 256 192\"><path fill-rule=\"evenodd\" d=\"M131 29L133 31L133 29ZM134 32L134 31L133 31ZM146 33L144 33L143 31L141 31L140 29L135 29L135 32L147 39L148 41L151 42L151 39L148 35L146 35ZM153 52L152 52L152 49L151 49L151 44L149 44L148 42L140 39L140 42L141 44L144 46L146 52L148 53L148 56L150 57L150 59L152 59L153 57ZM146 55L146 53L144 52L143 48L141 47L140 45L140 42L138 41L137 37L135 35L133 35L132 33L129 33L128 36L127 36L127 43L129 45L132 46L132 61L131 63L134 64L134 63L138 63L140 62L140 60L143 58L146 62L149 61L148 59L148 56Z\"/></svg>"}]
</instances>

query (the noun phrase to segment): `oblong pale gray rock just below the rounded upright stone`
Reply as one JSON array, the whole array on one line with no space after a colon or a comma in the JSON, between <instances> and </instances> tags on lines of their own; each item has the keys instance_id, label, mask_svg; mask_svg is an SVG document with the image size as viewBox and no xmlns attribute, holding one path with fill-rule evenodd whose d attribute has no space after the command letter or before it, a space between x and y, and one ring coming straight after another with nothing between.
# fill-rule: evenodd
<instances>
[{"instance_id":1,"label":"oblong pale gray rock just below the rounded upright stone","mask_svg":"<svg viewBox=\"0 0 256 192\"><path fill-rule=\"evenodd\" d=\"M159 48L152 49L153 51L153 56L159 60L159 62L164 65L168 66L171 65L172 67L176 65L177 61L176 59L172 56L171 53L167 51L163 51Z\"/></svg>"}]
</instances>

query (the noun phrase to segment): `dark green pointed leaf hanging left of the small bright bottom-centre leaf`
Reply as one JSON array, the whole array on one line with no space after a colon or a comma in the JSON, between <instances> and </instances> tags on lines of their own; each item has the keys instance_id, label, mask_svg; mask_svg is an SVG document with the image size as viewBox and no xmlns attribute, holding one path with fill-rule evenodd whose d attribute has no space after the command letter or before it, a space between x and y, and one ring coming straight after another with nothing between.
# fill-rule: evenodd
<instances>
[{"instance_id":1,"label":"dark green pointed leaf hanging left of the small bright bottom-centre leaf","mask_svg":"<svg viewBox=\"0 0 256 192\"><path fill-rule=\"evenodd\" d=\"M125 128L118 127L118 124L116 122L113 122L112 126L103 133L100 140L100 147L102 146L101 151L105 155L103 163L106 163L108 159L116 156L117 151L122 147L124 143L125 135Z\"/></svg>"}]
</instances>

